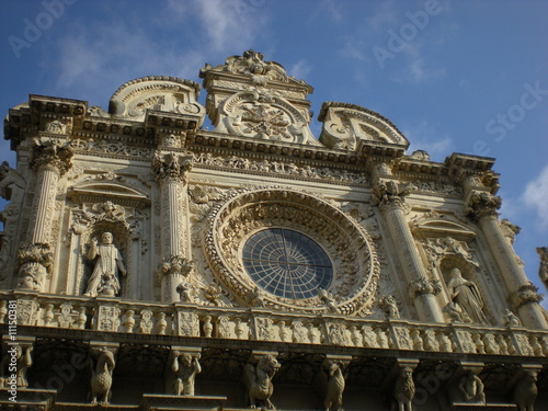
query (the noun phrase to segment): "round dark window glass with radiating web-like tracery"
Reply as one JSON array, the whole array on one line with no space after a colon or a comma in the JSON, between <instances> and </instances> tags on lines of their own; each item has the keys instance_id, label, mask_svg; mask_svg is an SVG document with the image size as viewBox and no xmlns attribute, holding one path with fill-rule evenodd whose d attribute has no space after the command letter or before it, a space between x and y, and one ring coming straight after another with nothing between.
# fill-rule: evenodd
<instances>
[{"instance_id":1,"label":"round dark window glass with radiating web-like tracery","mask_svg":"<svg viewBox=\"0 0 548 411\"><path fill-rule=\"evenodd\" d=\"M265 292L306 299L327 289L333 276L328 254L311 238L289 229L255 232L243 246L243 267Z\"/></svg>"}]
</instances>

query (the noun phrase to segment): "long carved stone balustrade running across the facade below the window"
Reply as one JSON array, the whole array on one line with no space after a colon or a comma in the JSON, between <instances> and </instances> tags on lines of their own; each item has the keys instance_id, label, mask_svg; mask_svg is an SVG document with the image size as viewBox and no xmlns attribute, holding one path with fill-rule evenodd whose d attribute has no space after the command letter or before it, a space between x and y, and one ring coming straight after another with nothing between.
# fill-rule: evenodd
<instances>
[{"instance_id":1,"label":"long carved stone balustrade running across the facade below the window","mask_svg":"<svg viewBox=\"0 0 548 411\"><path fill-rule=\"evenodd\" d=\"M430 324L336 315L278 313L262 308L150 304L117 298L0 293L0 323L18 301L19 326L199 336L365 349L548 356L548 332L522 327Z\"/></svg>"}]
</instances>

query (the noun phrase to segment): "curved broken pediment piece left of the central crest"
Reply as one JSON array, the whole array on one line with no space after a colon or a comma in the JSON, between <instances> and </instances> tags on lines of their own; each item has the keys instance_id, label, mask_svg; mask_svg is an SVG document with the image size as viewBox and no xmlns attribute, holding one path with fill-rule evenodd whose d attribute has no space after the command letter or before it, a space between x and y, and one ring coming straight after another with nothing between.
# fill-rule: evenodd
<instances>
[{"instance_id":1,"label":"curved broken pediment piece left of the central crest","mask_svg":"<svg viewBox=\"0 0 548 411\"><path fill-rule=\"evenodd\" d=\"M109 113L144 119L147 110L195 115L202 125L205 107L196 101L199 84L176 77L142 77L123 84L112 95Z\"/></svg>"}]
</instances>

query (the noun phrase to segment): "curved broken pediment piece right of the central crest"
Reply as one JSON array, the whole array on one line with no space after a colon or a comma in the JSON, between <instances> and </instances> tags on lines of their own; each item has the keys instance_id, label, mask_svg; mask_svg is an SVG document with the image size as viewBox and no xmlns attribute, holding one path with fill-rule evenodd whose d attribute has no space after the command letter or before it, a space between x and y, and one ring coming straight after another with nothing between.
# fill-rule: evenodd
<instances>
[{"instance_id":1,"label":"curved broken pediment piece right of the central crest","mask_svg":"<svg viewBox=\"0 0 548 411\"><path fill-rule=\"evenodd\" d=\"M318 119L323 122L320 141L330 148L354 150L361 140L409 146L389 119L359 105L326 102Z\"/></svg>"}]
</instances>

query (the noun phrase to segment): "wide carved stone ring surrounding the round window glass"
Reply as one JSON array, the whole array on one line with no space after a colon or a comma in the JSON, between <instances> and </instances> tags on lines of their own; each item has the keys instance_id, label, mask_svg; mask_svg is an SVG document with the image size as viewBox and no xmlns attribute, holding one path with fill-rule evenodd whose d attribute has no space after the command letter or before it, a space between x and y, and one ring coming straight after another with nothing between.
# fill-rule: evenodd
<instances>
[{"instance_id":1,"label":"wide carved stone ring surrounding the round window glass","mask_svg":"<svg viewBox=\"0 0 548 411\"><path fill-rule=\"evenodd\" d=\"M284 228L308 236L327 252L333 265L330 304L318 295L289 299L261 293L266 308L304 312L365 313L374 304L379 263L369 235L350 216L326 201L282 189L244 190L212 209L204 238L215 275L242 301L256 292L242 264L247 240L265 228ZM334 310L334 308L336 310Z\"/></svg>"}]
</instances>

